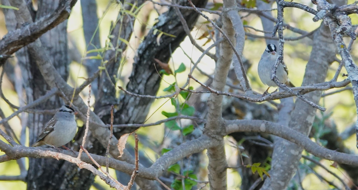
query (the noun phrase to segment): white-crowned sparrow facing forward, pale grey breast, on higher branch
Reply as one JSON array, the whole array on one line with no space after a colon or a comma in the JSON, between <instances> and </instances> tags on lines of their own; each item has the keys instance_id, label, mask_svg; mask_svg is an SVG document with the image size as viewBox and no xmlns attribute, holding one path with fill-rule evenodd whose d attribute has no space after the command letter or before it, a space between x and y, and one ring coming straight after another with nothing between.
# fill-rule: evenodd
<instances>
[{"instance_id":1,"label":"white-crowned sparrow facing forward, pale grey breast, on higher branch","mask_svg":"<svg viewBox=\"0 0 358 190\"><path fill-rule=\"evenodd\" d=\"M260 76L262 83L269 86L269 88L270 86L277 86L276 83L271 80L271 71L275 66L277 57L278 54L275 44L269 44L263 52L260 62L258 62L258 76ZM288 73L289 71L287 70L286 65L282 62L282 64L277 67L277 78L280 82L286 84L287 86L295 87L295 85L293 85L287 77ZM269 88L267 90L269 90ZM267 90L265 92L267 92Z\"/></svg>"}]
</instances>

